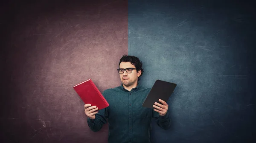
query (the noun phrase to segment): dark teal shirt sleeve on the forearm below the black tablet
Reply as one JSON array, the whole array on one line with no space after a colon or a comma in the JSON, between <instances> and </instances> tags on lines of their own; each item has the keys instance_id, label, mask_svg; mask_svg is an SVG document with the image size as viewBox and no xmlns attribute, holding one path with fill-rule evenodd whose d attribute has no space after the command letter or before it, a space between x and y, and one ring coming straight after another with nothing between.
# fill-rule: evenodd
<instances>
[{"instance_id":1,"label":"dark teal shirt sleeve on the forearm below the black tablet","mask_svg":"<svg viewBox=\"0 0 256 143\"><path fill-rule=\"evenodd\" d=\"M169 129L171 126L171 116L169 111L167 110L166 115L160 116L158 112L151 110L152 118L157 121L157 125L160 126L162 129Z\"/></svg>"}]
</instances>

